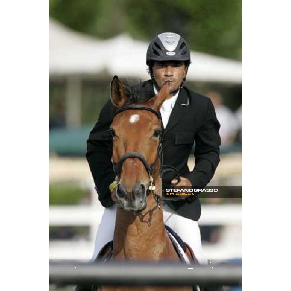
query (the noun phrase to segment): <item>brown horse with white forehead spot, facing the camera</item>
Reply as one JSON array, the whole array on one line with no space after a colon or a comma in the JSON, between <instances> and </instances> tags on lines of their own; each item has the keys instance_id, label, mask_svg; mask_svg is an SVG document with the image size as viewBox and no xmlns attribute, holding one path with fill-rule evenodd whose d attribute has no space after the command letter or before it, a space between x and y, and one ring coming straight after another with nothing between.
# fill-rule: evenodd
<instances>
[{"instance_id":1,"label":"brown horse with white forehead spot, facing the camera","mask_svg":"<svg viewBox=\"0 0 291 291\"><path fill-rule=\"evenodd\" d=\"M163 222L161 120L158 112L169 97L166 83L152 99L128 105L123 84L115 76L111 101L117 113L111 124L113 165L119 200L114 231L113 259L179 261ZM160 149L161 150L161 149ZM162 201L161 201L162 202ZM192 287L99 287L99 290L192 291Z\"/></svg>"}]
</instances>

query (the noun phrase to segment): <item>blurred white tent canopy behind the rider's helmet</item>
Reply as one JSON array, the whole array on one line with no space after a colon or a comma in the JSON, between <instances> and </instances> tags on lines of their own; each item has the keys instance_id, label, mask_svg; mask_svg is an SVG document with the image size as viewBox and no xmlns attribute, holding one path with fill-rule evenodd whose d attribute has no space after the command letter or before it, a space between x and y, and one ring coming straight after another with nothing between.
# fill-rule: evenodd
<instances>
[{"instance_id":1,"label":"blurred white tent canopy behind the rider's helmet","mask_svg":"<svg viewBox=\"0 0 291 291\"><path fill-rule=\"evenodd\" d=\"M49 19L49 76L118 75L148 79L148 43L128 35L98 40ZM188 81L240 84L242 63L191 51Z\"/></svg>"}]
</instances>

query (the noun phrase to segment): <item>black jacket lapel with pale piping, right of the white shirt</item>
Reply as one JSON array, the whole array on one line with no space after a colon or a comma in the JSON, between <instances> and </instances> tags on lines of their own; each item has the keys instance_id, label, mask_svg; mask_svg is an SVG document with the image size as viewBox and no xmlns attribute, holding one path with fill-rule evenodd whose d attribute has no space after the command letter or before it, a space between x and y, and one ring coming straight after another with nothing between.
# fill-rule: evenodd
<instances>
[{"instance_id":1,"label":"black jacket lapel with pale piping, right of the white shirt","mask_svg":"<svg viewBox=\"0 0 291 291\"><path fill-rule=\"evenodd\" d=\"M189 112L189 108L190 103L187 97L187 93L184 89L182 89L171 112L168 124L164 129L164 134L166 134L185 114L187 114L187 112Z\"/></svg>"}]
</instances>

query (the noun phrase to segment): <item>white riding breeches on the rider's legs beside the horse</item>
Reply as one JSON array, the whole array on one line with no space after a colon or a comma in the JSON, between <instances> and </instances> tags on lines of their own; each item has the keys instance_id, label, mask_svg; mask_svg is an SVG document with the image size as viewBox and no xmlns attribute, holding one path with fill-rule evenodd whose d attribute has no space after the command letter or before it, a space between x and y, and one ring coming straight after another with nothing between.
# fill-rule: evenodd
<instances>
[{"instance_id":1,"label":"white riding breeches on the rider's legs beside the horse","mask_svg":"<svg viewBox=\"0 0 291 291\"><path fill-rule=\"evenodd\" d=\"M117 207L115 205L104 209L104 213L97 230L95 248L91 261L96 259L99 251L107 242L113 240L116 209ZM207 264L207 259L202 251L200 229L197 221L178 215L167 205L163 205L163 218L164 223L167 226L170 226L178 234L178 236L192 248L199 264Z\"/></svg>"}]
</instances>

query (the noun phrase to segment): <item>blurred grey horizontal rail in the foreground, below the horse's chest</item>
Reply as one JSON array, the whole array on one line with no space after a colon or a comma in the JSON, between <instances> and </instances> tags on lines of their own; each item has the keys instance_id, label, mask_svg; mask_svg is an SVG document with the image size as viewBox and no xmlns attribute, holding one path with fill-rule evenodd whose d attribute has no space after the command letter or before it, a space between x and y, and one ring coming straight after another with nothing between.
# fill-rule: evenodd
<instances>
[{"instance_id":1,"label":"blurred grey horizontal rail in the foreground, below the horse's chest","mask_svg":"<svg viewBox=\"0 0 291 291\"><path fill-rule=\"evenodd\" d=\"M49 283L186 286L242 285L241 265L49 263Z\"/></svg>"}]
</instances>

